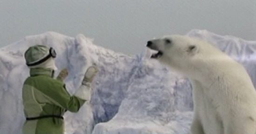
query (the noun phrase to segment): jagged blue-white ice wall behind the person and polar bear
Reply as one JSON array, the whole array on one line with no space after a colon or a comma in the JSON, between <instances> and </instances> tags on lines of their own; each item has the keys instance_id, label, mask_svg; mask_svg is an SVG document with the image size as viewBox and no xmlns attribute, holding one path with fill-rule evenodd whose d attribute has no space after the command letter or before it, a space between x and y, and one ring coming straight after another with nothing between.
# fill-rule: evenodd
<instances>
[{"instance_id":1,"label":"jagged blue-white ice wall behind the person and polar bear","mask_svg":"<svg viewBox=\"0 0 256 134\"><path fill-rule=\"evenodd\" d=\"M256 41L192 30L189 36L205 39L242 63L256 84ZM0 48L0 134L20 134L25 121L21 87L28 77L23 57L29 46L43 44L57 51L59 70L68 69L67 90L80 86L88 66L99 67L94 93L76 114L65 114L66 134L182 134L189 132L193 114L191 87L149 60L150 51L135 56L94 45L83 35L67 37L55 32L27 36ZM56 72L58 73L58 71Z\"/></svg>"}]
</instances>

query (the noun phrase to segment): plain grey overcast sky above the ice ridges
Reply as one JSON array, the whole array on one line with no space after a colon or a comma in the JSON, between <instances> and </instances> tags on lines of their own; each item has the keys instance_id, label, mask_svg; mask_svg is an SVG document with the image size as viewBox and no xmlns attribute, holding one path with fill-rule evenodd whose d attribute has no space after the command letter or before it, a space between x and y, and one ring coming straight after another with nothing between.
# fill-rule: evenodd
<instances>
[{"instance_id":1,"label":"plain grey overcast sky above the ice ridges","mask_svg":"<svg viewBox=\"0 0 256 134\"><path fill-rule=\"evenodd\" d=\"M256 0L0 0L0 47L54 31L137 54L148 39L191 29L256 40Z\"/></svg>"}]
</instances>

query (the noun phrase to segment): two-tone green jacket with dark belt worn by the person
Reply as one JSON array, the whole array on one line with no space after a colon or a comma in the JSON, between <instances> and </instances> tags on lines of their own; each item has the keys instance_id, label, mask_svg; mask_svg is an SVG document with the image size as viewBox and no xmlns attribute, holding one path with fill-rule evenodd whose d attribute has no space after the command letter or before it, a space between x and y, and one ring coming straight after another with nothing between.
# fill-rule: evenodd
<instances>
[{"instance_id":1,"label":"two-tone green jacket with dark belt worn by the person","mask_svg":"<svg viewBox=\"0 0 256 134\"><path fill-rule=\"evenodd\" d=\"M65 84L52 78L53 70L30 69L30 77L22 88L24 114L26 118L43 115L62 116L68 110L78 112L86 100L70 96ZM64 121L61 118L48 117L27 120L23 134L64 134Z\"/></svg>"}]
</instances>

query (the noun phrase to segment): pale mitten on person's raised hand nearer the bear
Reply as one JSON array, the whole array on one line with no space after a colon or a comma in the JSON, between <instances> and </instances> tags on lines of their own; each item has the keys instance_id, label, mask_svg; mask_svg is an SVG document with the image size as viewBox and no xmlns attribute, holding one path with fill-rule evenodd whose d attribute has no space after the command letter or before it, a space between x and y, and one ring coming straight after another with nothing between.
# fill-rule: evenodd
<instances>
[{"instance_id":1,"label":"pale mitten on person's raised hand nearer the bear","mask_svg":"<svg viewBox=\"0 0 256 134\"><path fill-rule=\"evenodd\" d=\"M98 72L98 68L96 66L90 66L86 72L85 72L85 75L84 75L84 78L83 78L83 81L82 81L82 84L83 85L87 85L87 84L90 84L92 83L93 79L94 79L94 76L96 75L96 73Z\"/></svg>"}]
</instances>

